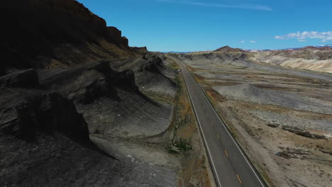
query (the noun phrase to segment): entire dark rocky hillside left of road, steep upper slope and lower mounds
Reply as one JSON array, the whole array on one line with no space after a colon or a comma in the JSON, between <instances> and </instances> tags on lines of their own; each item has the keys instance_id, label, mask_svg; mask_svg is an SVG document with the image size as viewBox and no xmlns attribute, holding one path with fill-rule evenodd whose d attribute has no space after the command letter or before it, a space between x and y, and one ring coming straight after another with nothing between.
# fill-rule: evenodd
<instances>
[{"instance_id":1,"label":"entire dark rocky hillside left of road, steep upper slope and lower mounds","mask_svg":"<svg viewBox=\"0 0 332 187\"><path fill-rule=\"evenodd\" d=\"M74 0L4 1L0 21L0 186L175 186L174 170L90 140L167 129L172 106L141 92L175 95L160 54Z\"/></svg>"}]
</instances>

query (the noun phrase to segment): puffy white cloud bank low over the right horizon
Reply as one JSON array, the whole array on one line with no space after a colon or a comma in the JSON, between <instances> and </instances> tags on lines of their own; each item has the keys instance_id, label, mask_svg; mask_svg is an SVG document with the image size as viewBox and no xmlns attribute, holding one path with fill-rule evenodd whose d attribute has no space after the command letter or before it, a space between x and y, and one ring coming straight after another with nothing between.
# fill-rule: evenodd
<instances>
[{"instance_id":1,"label":"puffy white cloud bank low over the right horizon","mask_svg":"<svg viewBox=\"0 0 332 187\"><path fill-rule=\"evenodd\" d=\"M275 39L277 40L288 40L296 38L299 42L305 42L307 38L316 38L321 40L321 42L327 42L328 40L332 40L332 31L328 32L317 32L317 31L304 31L297 33L289 33L288 35L276 35Z\"/></svg>"}]
</instances>

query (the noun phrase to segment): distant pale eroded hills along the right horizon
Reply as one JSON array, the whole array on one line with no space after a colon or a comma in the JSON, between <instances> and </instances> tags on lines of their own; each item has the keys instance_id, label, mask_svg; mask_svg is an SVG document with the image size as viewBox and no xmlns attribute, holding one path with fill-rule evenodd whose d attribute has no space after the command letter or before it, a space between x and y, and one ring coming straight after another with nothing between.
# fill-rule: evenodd
<instances>
[{"instance_id":1,"label":"distant pale eroded hills along the right horizon","mask_svg":"<svg viewBox=\"0 0 332 187\"><path fill-rule=\"evenodd\" d=\"M331 47L303 47L295 50L266 50L266 51L245 51L229 46L221 47L213 52L192 52L194 54L216 61L227 60L232 56L235 60L253 62L258 64L270 64L288 69L303 69L314 72L332 73L332 48ZM233 62L235 63L235 62Z\"/></svg>"}]
</instances>

